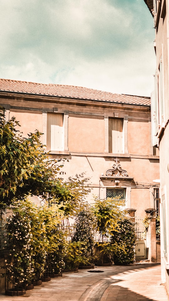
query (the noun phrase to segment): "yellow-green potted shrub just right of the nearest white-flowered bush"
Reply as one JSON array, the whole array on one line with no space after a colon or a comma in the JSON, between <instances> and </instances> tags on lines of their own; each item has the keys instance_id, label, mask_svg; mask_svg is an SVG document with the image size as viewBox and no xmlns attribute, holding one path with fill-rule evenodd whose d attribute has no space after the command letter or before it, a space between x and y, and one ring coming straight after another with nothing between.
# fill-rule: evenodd
<instances>
[{"instance_id":1,"label":"yellow-green potted shrub just right of the nearest white-flowered bush","mask_svg":"<svg viewBox=\"0 0 169 301\"><path fill-rule=\"evenodd\" d=\"M39 208L39 226L43 229L34 246L34 268L42 281L50 281L51 275L58 274L62 270L62 256L64 248L64 235L61 230L63 212L59 205L44 204ZM35 225L36 227L37 225ZM36 233L39 231L36 230ZM35 243L35 240L34 240ZM40 248L40 249L39 249ZM56 271L57 270L57 271Z\"/></svg>"}]
</instances>

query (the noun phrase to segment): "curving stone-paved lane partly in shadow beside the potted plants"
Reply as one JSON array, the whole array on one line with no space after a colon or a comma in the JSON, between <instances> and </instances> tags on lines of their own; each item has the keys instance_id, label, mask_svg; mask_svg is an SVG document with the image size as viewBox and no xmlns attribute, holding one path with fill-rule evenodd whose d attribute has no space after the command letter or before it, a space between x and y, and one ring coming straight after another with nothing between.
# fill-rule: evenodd
<instances>
[{"instance_id":1,"label":"curving stone-paved lane partly in shadow beside the potted plants","mask_svg":"<svg viewBox=\"0 0 169 301\"><path fill-rule=\"evenodd\" d=\"M93 272L89 272L93 271ZM103 272L96 272L103 271ZM26 291L25 296L0 294L1 301L169 301L161 285L159 263L130 266L95 267L78 273L63 273L41 286Z\"/></svg>"}]
</instances>

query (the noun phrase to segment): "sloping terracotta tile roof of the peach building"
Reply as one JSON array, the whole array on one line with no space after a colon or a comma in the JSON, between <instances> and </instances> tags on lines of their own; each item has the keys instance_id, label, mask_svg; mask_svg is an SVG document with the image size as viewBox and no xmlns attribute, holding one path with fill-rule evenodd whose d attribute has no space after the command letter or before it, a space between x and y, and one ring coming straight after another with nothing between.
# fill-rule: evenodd
<instances>
[{"instance_id":1,"label":"sloping terracotta tile roof of the peach building","mask_svg":"<svg viewBox=\"0 0 169 301\"><path fill-rule=\"evenodd\" d=\"M150 98L90 88L0 79L0 91L150 106Z\"/></svg>"}]
</instances>

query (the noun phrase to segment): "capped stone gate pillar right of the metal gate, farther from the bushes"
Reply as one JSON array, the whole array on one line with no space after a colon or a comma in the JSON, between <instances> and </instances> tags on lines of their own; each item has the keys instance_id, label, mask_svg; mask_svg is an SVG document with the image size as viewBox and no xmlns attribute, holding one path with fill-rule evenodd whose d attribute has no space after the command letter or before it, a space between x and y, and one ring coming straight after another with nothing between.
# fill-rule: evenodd
<instances>
[{"instance_id":1,"label":"capped stone gate pillar right of the metal gate, farther from the bushes","mask_svg":"<svg viewBox=\"0 0 169 301\"><path fill-rule=\"evenodd\" d=\"M147 258L150 262L157 262L156 256L156 209L145 210L149 219L149 227L146 232Z\"/></svg>"}]
</instances>

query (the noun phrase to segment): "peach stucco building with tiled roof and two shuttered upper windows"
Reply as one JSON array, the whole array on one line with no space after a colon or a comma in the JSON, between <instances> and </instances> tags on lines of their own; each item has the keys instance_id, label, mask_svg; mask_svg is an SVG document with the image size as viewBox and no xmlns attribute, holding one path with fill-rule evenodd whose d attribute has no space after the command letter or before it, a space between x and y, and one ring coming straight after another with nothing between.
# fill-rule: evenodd
<instances>
[{"instance_id":1,"label":"peach stucco building with tiled roof and two shuttered upper windows","mask_svg":"<svg viewBox=\"0 0 169 301\"><path fill-rule=\"evenodd\" d=\"M23 135L38 129L53 158L69 159L62 177L90 177L89 202L93 194L120 196L142 218L145 209L158 207L150 98L1 79L0 105L6 119L16 117Z\"/></svg>"}]
</instances>

